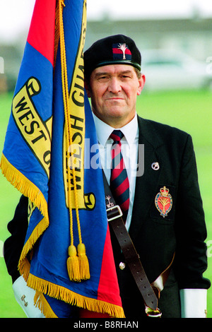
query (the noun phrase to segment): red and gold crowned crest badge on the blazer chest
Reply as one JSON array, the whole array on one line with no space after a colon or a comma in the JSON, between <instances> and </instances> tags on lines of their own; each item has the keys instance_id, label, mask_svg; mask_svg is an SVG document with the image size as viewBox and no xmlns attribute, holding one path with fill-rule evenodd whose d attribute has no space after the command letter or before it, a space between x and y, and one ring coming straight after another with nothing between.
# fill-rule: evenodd
<instances>
[{"instance_id":1,"label":"red and gold crowned crest badge on the blazer chest","mask_svg":"<svg viewBox=\"0 0 212 332\"><path fill-rule=\"evenodd\" d=\"M160 215L163 215L163 218L167 216L172 208L172 196L169 191L166 186L163 186L163 188L160 188L160 193L155 196L155 206Z\"/></svg>"}]
</instances>

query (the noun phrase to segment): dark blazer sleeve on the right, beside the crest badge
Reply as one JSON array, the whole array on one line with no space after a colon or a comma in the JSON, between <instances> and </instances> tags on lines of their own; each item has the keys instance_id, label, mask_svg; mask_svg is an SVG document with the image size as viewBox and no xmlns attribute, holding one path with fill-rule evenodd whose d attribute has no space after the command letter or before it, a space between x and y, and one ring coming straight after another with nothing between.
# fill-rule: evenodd
<instances>
[{"instance_id":1,"label":"dark blazer sleeve on the right, beside the crest badge","mask_svg":"<svg viewBox=\"0 0 212 332\"><path fill-rule=\"evenodd\" d=\"M208 289L211 283L203 276L207 268L206 223L194 146L189 135L182 155L175 227L177 237L175 274L179 288Z\"/></svg>"}]
</instances>

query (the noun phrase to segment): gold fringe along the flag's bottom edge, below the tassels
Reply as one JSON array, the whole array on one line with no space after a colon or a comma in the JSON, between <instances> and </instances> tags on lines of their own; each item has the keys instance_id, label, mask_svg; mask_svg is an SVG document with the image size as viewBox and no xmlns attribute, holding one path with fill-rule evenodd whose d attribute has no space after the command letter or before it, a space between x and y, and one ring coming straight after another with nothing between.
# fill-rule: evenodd
<instances>
[{"instance_id":1,"label":"gold fringe along the flag's bottom edge, below the tassels","mask_svg":"<svg viewBox=\"0 0 212 332\"><path fill-rule=\"evenodd\" d=\"M47 308L42 294L46 294L57 300L76 305L77 307L81 307L83 309L88 309L91 312L98 312L101 314L107 313L114 318L125 318L122 307L101 300L92 299L90 297L84 297L83 295L76 294L65 287L55 285L47 280L38 278L35 275L29 275L27 284L28 287L37 290L35 299L36 303L40 309L42 309L43 314L47 317L51 313L49 313L49 309Z\"/></svg>"}]
</instances>

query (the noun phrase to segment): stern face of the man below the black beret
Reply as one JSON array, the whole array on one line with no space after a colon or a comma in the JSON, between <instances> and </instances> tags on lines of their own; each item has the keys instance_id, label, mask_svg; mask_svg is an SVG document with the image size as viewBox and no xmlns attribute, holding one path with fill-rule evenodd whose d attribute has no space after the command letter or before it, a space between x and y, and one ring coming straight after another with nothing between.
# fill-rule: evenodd
<instances>
[{"instance_id":1,"label":"stern face of the man below the black beret","mask_svg":"<svg viewBox=\"0 0 212 332\"><path fill-rule=\"evenodd\" d=\"M93 113L114 128L129 123L136 114L136 98L145 76L138 78L133 66L112 64L98 67L90 76L87 89Z\"/></svg>"}]
</instances>

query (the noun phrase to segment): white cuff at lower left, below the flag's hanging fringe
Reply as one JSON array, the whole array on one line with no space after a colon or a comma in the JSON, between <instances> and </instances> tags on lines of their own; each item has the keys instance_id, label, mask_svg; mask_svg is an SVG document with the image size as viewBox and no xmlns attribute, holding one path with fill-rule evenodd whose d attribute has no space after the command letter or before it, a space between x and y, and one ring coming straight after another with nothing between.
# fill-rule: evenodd
<instances>
[{"instance_id":1,"label":"white cuff at lower left, below the flag's hanging fringe","mask_svg":"<svg viewBox=\"0 0 212 332\"><path fill-rule=\"evenodd\" d=\"M35 290L28 287L22 275L13 283L13 292L28 318L45 318L40 309L34 305Z\"/></svg>"}]
</instances>

